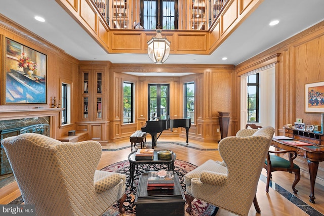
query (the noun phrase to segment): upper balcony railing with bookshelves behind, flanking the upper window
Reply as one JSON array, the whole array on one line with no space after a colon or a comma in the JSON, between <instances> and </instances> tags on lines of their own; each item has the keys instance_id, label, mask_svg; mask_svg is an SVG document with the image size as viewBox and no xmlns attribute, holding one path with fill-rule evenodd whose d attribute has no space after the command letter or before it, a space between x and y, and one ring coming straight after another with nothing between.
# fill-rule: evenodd
<instances>
[{"instance_id":1,"label":"upper balcony railing with bookshelves behind, flanking the upper window","mask_svg":"<svg viewBox=\"0 0 324 216\"><path fill-rule=\"evenodd\" d=\"M110 28L142 28L139 22L141 0L93 0L93 2ZM227 2L228 0L178 0L176 4L178 22L172 26L178 26L179 30L207 30ZM155 11L150 14L155 14Z\"/></svg>"}]
</instances>

